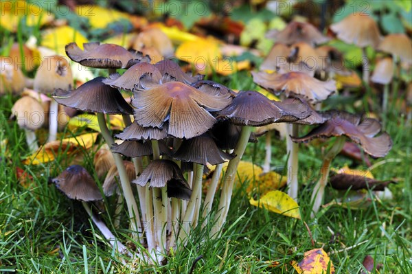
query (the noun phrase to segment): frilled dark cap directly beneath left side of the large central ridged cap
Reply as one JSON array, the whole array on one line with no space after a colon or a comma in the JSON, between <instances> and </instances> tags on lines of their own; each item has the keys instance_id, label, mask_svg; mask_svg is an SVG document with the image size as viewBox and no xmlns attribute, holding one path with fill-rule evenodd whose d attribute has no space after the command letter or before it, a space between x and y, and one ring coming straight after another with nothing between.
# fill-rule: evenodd
<instances>
[{"instance_id":1,"label":"frilled dark cap directly beneath left side of the large central ridged cap","mask_svg":"<svg viewBox=\"0 0 412 274\"><path fill-rule=\"evenodd\" d=\"M136 122L133 122L129 126L126 126L124 130L115 135L118 139L126 141L137 141L137 140L160 140L165 139L168 136L168 124L165 123L162 128L155 128L152 126L140 126Z\"/></svg>"}]
</instances>

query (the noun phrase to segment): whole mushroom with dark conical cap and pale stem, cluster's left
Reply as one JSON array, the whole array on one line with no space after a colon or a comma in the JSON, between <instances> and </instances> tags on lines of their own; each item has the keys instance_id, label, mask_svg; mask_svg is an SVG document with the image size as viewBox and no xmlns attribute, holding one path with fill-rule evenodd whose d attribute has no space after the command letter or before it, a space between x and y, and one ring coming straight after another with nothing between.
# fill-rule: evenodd
<instances>
[{"instance_id":1,"label":"whole mushroom with dark conical cap and pale stem, cluster's left","mask_svg":"<svg viewBox=\"0 0 412 274\"><path fill-rule=\"evenodd\" d=\"M108 131L106 125L105 114L131 114L132 108L122 97L122 94L112 87L102 82L104 78L98 77L89 82L82 84L78 89L73 91L56 90L54 99L59 104L70 106L73 109L80 111L91 111L97 113L98 123L108 146L114 144L113 137ZM96 100L98 98L98 100ZM137 203L133 196L130 181L128 180L126 170L124 168L122 157L114 154L113 158L119 171L120 182L122 183L122 190L124 198L128 206L128 213L130 217L130 225L133 231L138 231L140 226L140 217L137 209Z\"/></svg>"}]
</instances>

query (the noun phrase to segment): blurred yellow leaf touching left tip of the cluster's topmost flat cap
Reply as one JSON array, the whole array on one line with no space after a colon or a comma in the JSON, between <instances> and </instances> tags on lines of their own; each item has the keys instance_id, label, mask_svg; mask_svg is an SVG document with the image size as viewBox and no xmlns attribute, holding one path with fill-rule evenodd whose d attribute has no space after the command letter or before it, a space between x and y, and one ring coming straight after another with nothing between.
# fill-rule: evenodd
<instances>
[{"instance_id":1,"label":"blurred yellow leaf touching left tip of the cluster's topmost flat cap","mask_svg":"<svg viewBox=\"0 0 412 274\"><path fill-rule=\"evenodd\" d=\"M87 43L87 38L82 36L80 32L63 25L62 27L55 27L52 30L46 31L43 34L41 45L53 49L57 54L66 56L65 46L71 42L75 42L79 47L83 47L83 43Z\"/></svg>"}]
</instances>

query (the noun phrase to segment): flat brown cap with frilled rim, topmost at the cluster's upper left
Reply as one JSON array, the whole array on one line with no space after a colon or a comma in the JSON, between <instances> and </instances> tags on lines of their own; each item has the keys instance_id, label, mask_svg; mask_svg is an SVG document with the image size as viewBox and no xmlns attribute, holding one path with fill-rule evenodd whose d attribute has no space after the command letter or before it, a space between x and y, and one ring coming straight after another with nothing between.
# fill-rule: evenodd
<instances>
[{"instance_id":1,"label":"flat brown cap with frilled rim, topmost at the cluster's upper left","mask_svg":"<svg viewBox=\"0 0 412 274\"><path fill-rule=\"evenodd\" d=\"M98 69L127 69L139 62L150 62L149 56L129 52L114 44L84 43L84 50L76 43L66 45L66 54L74 62Z\"/></svg>"}]
</instances>

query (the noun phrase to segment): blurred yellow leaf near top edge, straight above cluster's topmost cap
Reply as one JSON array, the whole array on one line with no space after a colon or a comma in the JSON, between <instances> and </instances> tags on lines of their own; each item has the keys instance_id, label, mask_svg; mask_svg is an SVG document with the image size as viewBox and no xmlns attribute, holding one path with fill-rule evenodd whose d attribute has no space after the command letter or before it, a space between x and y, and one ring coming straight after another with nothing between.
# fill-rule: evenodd
<instances>
[{"instance_id":1,"label":"blurred yellow leaf near top edge, straight above cluster's topmost cap","mask_svg":"<svg viewBox=\"0 0 412 274\"><path fill-rule=\"evenodd\" d=\"M122 19L129 20L127 13L104 8L100 5L78 5L76 13L78 16L89 19L90 25L96 29L103 29L108 24Z\"/></svg>"}]
</instances>

